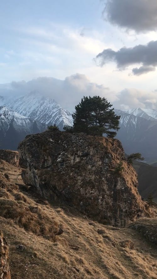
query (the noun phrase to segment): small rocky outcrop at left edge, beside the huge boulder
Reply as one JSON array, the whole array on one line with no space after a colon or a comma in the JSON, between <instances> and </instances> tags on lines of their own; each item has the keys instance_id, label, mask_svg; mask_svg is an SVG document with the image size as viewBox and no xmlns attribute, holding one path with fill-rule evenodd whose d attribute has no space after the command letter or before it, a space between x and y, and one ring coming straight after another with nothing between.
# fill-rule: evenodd
<instances>
[{"instance_id":1,"label":"small rocky outcrop at left edge, beside the huge boulder","mask_svg":"<svg viewBox=\"0 0 157 279\"><path fill-rule=\"evenodd\" d=\"M5 160L11 165L19 166L19 152L12 150L0 149L0 159Z\"/></svg>"}]
</instances>

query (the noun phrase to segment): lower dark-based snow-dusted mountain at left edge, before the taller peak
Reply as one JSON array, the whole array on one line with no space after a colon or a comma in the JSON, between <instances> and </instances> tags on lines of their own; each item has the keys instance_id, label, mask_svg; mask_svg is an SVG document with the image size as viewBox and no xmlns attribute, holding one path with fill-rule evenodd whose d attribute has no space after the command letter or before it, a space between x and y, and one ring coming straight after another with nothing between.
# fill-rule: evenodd
<instances>
[{"instance_id":1,"label":"lower dark-based snow-dusted mountain at left edge, before the taller peak","mask_svg":"<svg viewBox=\"0 0 157 279\"><path fill-rule=\"evenodd\" d=\"M18 144L28 134L45 131L46 124L0 106L0 148L17 150Z\"/></svg>"}]
</instances>

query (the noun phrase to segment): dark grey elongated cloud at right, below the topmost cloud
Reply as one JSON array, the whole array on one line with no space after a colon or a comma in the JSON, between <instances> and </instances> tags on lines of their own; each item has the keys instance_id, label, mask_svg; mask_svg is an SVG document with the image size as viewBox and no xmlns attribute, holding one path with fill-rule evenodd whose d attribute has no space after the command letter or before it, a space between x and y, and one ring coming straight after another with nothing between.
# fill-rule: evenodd
<instances>
[{"instance_id":1,"label":"dark grey elongated cloud at right, below the topmost cloud","mask_svg":"<svg viewBox=\"0 0 157 279\"><path fill-rule=\"evenodd\" d=\"M96 61L101 67L114 61L119 69L125 69L133 64L142 64L140 68L133 68L134 75L151 72L157 66L157 41L151 41L147 45L122 47L118 51L105 49L96 56Z\"/></svg>"}]
</instances>

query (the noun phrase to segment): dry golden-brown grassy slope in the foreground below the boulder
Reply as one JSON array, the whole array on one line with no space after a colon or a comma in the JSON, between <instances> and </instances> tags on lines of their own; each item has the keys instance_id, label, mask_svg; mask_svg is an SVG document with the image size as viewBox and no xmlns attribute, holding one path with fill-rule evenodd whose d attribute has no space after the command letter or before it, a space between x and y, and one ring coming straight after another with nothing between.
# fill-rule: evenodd
<instances>
[{"instance_id":1,"label":"dry golden-brown grassy slope in the foreground below the boulder","mask_svg":"<svg viewBox=\"0 0 157 279\"><path fill-rule=\"evenodd\" d=\"M156 247L138 230L102 225L73 207L51 204L24 185L22 169L4 160L0 168L0 222L12 279L157 278Z\"/></svg>"}]
</instances>

